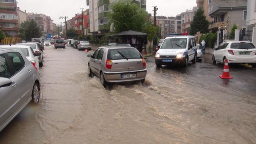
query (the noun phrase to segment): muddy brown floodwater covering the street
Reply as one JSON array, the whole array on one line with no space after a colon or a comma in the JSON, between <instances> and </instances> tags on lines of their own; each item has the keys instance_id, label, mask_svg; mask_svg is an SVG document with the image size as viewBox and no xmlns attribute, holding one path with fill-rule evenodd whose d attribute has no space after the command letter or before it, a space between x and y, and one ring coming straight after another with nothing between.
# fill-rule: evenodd
<instances>
[{"instance_id":1,"label":"muddy brown floodwater covering the street","mask_svg":"<svg viewBox=\"0 0 256 144\"><path fill-rule=\"evenodd\" d=\"M147 60L146 85L107 90L88 75L87 54L45 47L41 100L0 132L0 144L255 144L256 70L210 55L187 68L156 68Z\"/></svg>"}]
</instances>

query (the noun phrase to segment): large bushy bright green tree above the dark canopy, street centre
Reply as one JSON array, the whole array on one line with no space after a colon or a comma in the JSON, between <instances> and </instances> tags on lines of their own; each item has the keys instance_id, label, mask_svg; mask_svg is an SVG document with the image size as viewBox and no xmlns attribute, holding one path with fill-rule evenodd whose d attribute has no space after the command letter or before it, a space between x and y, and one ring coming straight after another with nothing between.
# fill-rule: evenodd
<instances>
[{"instance_id":1,"label":"large bushy bright green tree above the dark canopy, street centre","mask_svg":"<svg viewBox=\"0 0 256 144\"><path fill-rule=\"evenodd\" d=\"M114 32L134 30L141 32L146 22L147 12L140 9L131 0L119 0L110 6L109 24L113 24Z\"/></svg>"}]
</instances>

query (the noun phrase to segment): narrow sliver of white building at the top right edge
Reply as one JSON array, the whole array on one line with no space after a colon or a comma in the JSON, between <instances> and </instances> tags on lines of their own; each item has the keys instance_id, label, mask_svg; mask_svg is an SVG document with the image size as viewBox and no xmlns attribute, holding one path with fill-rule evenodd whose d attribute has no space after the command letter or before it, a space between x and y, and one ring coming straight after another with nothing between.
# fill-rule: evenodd
<instances>
[{"instance_id":1,"label":"narrow sliver of white building at the top right edge","mask_svg":"<svg viewBox=\"0 0 256 144\"><path fill-rule=\"evenodd\" d=\"M256 27L256 0L247 0L246 29Z\"/></svg>"}]
</instances>

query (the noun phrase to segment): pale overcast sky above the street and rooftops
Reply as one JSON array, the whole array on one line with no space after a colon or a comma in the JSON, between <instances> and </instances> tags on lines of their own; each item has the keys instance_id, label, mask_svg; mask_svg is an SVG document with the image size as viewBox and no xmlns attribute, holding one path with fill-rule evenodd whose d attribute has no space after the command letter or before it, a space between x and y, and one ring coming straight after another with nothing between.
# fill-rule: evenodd
<instances>
[{"instance_id":1,"label":"pale overcast sky above the street and rooftops","mask_svg":"<svg viewBox=\"0 0 256 144\"><path fill-rule=\"evenodd\" d=\"M186 9L196 6L196 0L147 0L147 12L153 14L152 6L157 6L157 15L176 16ZM80 8L89 9L86 0L17 0L20 10L26 12L42 13L50 16L53 23L60 24L64 20L60 16L68 16L69 19L76 13L81 13Z\"/></svg>"}]
</instances>

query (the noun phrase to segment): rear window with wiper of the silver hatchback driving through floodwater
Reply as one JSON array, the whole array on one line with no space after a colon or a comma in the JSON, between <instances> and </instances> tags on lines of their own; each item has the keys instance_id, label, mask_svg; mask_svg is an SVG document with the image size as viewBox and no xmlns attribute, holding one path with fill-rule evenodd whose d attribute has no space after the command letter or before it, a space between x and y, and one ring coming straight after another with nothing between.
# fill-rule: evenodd
<instances>
[{"instance_id":1,"label":"rear window with wiper of the silver hatchback driving through floodwater","mask_svg":"<svg viewBox=\"0 0 256 144\"><path fill-rule=\"evenodd\" d=\"M109 60L121 60L121 59L137 59L142 58L140 52L137 49L110 49L108 50Z\"/></svg>"}]
</instances>

